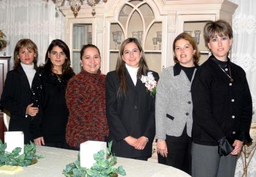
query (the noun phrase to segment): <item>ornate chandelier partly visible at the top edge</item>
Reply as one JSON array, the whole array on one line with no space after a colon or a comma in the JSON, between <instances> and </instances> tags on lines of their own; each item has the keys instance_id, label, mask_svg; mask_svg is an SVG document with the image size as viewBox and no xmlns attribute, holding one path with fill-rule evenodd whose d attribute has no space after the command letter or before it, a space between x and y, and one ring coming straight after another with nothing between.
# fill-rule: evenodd
<instances>
[{"instance_id":1,"label":"ornate chandelier partly visible at the top edge","mask_svg":"<svg viewBox=\"0 0 256 177\"><path fill-rule=\"evenodd\" d=\"M44 1L48 2L48 0L44 0ZM55 3L56 12L59 12L59 9L60 7L62 7L64 0L52 0L52 1ZM74 12L74 16L77 16L77 13L80 10L80 7L82 5L82 1L84 0L69 0L69 5L71 7L71 10ZM87 4L93 8L91 14L94 16L96 14L95 5L98 4L99 0L86 0L86 1L87 1Z\"/></svg>"}]
</instances>

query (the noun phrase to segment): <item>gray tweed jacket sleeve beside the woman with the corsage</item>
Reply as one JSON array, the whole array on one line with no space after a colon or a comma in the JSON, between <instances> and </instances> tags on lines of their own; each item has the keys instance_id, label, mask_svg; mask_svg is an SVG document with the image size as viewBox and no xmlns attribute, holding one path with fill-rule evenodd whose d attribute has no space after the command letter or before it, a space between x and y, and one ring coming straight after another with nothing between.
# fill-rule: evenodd
<instances>
[{"instance_id":1,"label":"gray tweed jacket sleeve beside the woman with the corsage","mask_svg":"<svg viewBox=\"0 0 256 177\"><path fill-rule=\"evenodd\" d=\"M161 78L157 84L157 95L155 99L155 138L166 139L166 125L165 125L165 113L166 113L166 94L169 88L166 88L167 82L166 69L163 69Z\"/></svg>"}]
</instances>

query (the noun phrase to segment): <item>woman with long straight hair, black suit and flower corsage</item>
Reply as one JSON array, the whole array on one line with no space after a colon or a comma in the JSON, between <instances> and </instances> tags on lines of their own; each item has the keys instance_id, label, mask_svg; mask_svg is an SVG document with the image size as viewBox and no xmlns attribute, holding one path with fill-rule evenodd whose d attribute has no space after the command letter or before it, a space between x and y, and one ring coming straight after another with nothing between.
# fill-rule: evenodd
<instances>
[{"instance_id":1,"label":"woman with long straight hair, black suit and flower corsage","mask_svg":"<svg viewBox=\"0 0 256 177\"><path fill-rule=\"evenodd\" d=\"M138 40L128 38L121 44L116 71L108 72L106 78L107 121L116 156L147 160L152 155L155 97L141 81L143 75L159 78L149 72Z\"/></svg>"}]
</instances>

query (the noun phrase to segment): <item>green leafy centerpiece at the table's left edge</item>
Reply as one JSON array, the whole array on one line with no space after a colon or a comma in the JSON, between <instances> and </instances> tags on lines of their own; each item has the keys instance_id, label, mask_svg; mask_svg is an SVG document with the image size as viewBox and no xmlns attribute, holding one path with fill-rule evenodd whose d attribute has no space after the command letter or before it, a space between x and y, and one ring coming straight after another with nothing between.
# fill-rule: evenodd
<instances>
[{"instance_id":1,"label":"green leafy centerpiece at the table's left edge","mask_svg":"<svg viewBox=\"0 0 256 177\"><path fill-rule=\"evenodd\" d=\"M15 148L12 153L5 151L7 148L6 143L2 143L0 139L0 166L2 165L16 165L21 167L26 167L34 164L37 159L43 158L43 156L38 156L35 154L36 147L33 142L30 141L30 144L24 145L24 153L21 152L21 148Z\"/></svg>"}]
</instances>

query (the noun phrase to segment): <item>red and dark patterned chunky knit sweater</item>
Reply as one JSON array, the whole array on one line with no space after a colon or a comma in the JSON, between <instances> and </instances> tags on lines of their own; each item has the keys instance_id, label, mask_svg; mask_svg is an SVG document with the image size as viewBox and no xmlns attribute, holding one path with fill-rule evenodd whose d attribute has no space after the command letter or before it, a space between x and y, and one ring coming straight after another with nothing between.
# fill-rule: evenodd
<instances>
[{"instance_id":1,"label":"red and dark patterned chunky knit sweater","mask_svg":"<svg viewBox=\"0 0 256 177\"><path fill-rule=\"evenodd\" d=\"M105 75L82 70L68 82L66 105L69 109L66 142L79 148L82 142L104 141L108 135L105 114Z\"/></svg>"}]
</instances>

